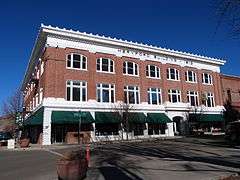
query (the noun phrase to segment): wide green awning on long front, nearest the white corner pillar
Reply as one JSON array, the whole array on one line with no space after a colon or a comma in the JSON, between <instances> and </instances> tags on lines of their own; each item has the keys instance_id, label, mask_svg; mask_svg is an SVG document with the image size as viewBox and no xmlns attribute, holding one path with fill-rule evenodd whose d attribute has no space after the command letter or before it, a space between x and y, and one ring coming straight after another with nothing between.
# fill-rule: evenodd
<instances>
[{"instance_id":1,"label":"wide green awning on long front, nearest the white corner pillar","mask_svg":"<svg viewBox=\"0 0 240 180\"><path fill-rule=\"evenodd\" d=\"M81 123L88 124L94 122L90 112L82 111L53 111L52 124L78 124L81 115Z\"/></svg>"}]
</instances>

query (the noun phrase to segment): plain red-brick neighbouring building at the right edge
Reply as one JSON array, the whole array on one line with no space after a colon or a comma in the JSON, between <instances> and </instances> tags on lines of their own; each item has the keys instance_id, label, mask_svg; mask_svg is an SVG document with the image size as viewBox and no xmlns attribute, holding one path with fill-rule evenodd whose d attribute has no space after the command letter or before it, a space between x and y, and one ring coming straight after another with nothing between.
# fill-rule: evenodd
<instances>
[{"instance_id":1,"label":"plain red-brick neighbouring building at the right edge","mask_svg":"<svg viewBox=\"0 0 240 180\"><path fill-rule=\"evenodd\" d=\"M221 74L221 84L224 103L229 101L240 111L240 77Z\"/></svg>"}]
</instances>

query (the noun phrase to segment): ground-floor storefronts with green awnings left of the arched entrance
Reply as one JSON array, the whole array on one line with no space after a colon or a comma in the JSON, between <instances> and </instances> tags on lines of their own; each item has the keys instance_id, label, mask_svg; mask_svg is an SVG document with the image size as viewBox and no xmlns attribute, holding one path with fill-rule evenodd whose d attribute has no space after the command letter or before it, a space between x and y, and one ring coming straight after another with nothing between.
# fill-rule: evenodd
<instances>
[{"instance_id":1,"label":"ground-floor storefronts with green awnings left of the arched entrance","mask_svg":"<svg viewBox=\"0 0 240 180\"><path fill-rule=\"evenodd\" d=\"M172 121L165 113L107 111L51 111L39 109L24 121L24 133L32 143L83 142L171 136Z\"/></svg>"}]
</instances>

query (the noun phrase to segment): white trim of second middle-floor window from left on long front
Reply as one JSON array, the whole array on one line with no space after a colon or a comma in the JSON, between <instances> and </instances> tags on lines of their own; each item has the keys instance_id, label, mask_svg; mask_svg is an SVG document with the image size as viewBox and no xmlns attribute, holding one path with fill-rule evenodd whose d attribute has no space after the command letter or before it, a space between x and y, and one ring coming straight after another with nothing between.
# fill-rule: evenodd
<instances>
[{"instance_id":1,"label":"white trim of second middle-floor window from left on long front","mask_svg":"<svg viewBox=\"0 0 240 180\"><path fill-rule=\"evenodd\" d=\"M108 85L108 88L103 87L104 85ZM98 87L98 85L100 85L100 87ZM111 88L111 86L113 85L113 88ZM107 84L107 83L97 83L97 91L96 91L96 100L98 102L98 90L100 90L100 102L99 103L115 103L116 99L115 99L115 84ZM109 91L109 102L103 102L103 95L102 92L103 90L108 90ZM111 102L111 97L112 97L112 90L113 90L113 102Z\"/></svg>"}]
</instances>

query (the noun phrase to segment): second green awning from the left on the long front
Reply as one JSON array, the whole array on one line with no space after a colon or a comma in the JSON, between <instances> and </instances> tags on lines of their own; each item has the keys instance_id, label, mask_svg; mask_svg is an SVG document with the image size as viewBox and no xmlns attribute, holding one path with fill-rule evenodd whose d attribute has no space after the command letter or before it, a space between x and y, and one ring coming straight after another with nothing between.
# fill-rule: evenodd
<instances>
[{"instance_id":1,"label":"second green awning from the left on the long front","mask_svg":"<svg viewBox=\"0 0 240 180\"><path fill-rule=\"evenodd\" d=\"M120 123L121 119L117 112L95 112L95 122L102 123Z\"/></svg>"}]
</instances>

